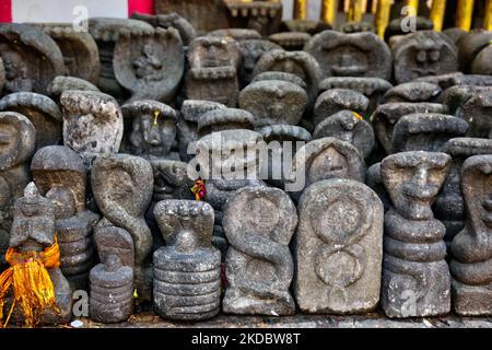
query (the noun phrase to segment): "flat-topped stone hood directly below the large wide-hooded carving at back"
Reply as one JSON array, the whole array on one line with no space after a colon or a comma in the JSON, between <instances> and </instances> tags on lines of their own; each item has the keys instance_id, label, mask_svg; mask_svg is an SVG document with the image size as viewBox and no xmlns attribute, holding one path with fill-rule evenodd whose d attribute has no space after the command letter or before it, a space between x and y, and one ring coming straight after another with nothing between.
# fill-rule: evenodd
<instances>
[{"instance_id":1,"label":"flat-topped stone hood directly below the large wide-hooded carving at back","mask_svg":"<svg viewBox=\"0 0 492 350\"><path fill-rule=\"evenodd\" d=\"M370 100L368 113L373 113L380 103L383 95L393 85L380 78L365 77L330 77L319 83L320 91L347 89L360 92Z\"/></svg>"}]
</instances>

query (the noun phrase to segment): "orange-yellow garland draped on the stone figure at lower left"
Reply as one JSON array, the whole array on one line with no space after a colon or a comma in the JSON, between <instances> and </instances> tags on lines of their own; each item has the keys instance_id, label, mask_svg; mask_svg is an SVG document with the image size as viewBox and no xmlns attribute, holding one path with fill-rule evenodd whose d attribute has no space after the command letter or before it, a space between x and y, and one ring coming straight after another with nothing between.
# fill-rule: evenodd
<instances>
[{"instance_id":1,"label":"orange-yellow garland draped on the stone figure at lower left","mask_svg":"<svg viewBox=\"0 0 492 350\"><path fill-rule=\"evenodd\" d=\"M4 298L11 287L14 300L3 328L7 327L17 304L21 305L27 327L37 325L43 312L48 307L60 312L56 304L55 288L47 271L49 268L60 266L60 248L56 236L55 243L43 252L20 253L10 247L5 260L10 264L10 268L0 275L0 326L3 322Z\"/></svg>"}]
</instances>

